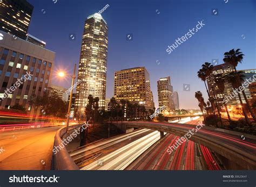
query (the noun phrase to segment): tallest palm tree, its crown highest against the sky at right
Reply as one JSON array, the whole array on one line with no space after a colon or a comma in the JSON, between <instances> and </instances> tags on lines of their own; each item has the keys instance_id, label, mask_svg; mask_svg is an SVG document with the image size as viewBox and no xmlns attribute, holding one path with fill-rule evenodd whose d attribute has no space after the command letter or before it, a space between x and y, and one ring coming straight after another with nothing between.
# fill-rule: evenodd
<instances>
[{"instance_id":1,"label":"tallest palm tree, its crown highest against the sky at right","mask_svg":"<svg viewBox=\"0 0 256 187\"><path fill-rule=\"evenodd\" d=\"M237 73L237 65L238 65L238 63L242 63L242 59L244 59L243 56L245 56L245 55L242 54L240 49L237 49L237 50L232 49L229 52L225 52L224 53L223 61L226 64L231 64L232 66L234 66L234 71L235 71L235 73ZM240 82L240 83L244 82L244 80L241 81L239 77L240 77L240 75L237 77L238 82ZM241 84L239 86L241 86ZM242 95L245 98L246 106L247 106L248 110L250 111L250 113L251 113L251 115L253 117L253 120L256 121L256 117L255 117L255 115L253 113L253 110L252 110L252 108L251 108L251 106L250 106L250 104L248 102L248 99L247 99L244 91L242 91Z\"/></svg>"}]
</instances>

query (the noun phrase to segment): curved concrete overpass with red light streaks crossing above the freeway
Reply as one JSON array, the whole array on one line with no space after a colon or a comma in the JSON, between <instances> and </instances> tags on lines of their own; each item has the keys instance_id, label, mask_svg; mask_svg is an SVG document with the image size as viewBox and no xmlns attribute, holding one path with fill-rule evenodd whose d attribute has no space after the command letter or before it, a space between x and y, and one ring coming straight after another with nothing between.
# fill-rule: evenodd
<instances>
[{"instance_id":1,"label":"curved concrete overpass with red light streaks crossing above the freeway","mask_svg":"<svg viewBox=\"0 0 256 187\"><path fill-rule=\"evenodd\" d=\"M196 129L196 126L180 123L160 123L160 122L123 122L126 127L146 128L163 132L185 136L188 130ZM242 140L241 137L246 137ZM232 169L256 169L256 137L238 133L235 131L218 129L203 126L197 133L190 137L191 141L202 144L210 148L215 153L223 157L223 160Z\"/></svg>"}]
</instances>

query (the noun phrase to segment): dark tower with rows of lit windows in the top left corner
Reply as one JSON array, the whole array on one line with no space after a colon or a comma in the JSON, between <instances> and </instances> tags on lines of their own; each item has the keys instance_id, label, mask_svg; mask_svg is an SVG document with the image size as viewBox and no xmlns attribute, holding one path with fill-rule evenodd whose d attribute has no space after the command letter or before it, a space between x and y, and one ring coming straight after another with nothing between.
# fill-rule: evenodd
<instances>
[{"instance_id":1,"label":"dark tower with rows of lit windows in the top left corner","mask_svg":"<svg viewBox=\"0 0 256 187\"><path fill-rule=\"evenodd\" d=\"M26 39L33 6L25 0L0 1L0 30Z\"/></svg>"}]
</instances>

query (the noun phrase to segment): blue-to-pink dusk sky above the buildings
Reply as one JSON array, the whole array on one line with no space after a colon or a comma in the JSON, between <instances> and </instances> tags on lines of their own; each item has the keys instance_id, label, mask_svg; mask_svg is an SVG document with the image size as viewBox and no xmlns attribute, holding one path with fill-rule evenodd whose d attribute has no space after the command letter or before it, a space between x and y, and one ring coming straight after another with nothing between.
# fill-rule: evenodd
<instances>
[{"instance_id":1,"label":"blue-to-pink dusk sky above the buildings","mask_svg":"<svg viewBox=\"0 0 256 187\"><path fill-rule=\"evenodd\" d=\"M199 108L196 91L207 94L197 71L205 61L219 59L224 52L241 49L244 61L238 70L256 68L255 9L256 1L68 1L28 0L33 6L29 33L46 42L46 49L56 52L55 70L73 72L79 63L84 21L109 4L102 16L109 27L106 98L113 96L114 72L145 66L150 73L154 103L158 107L157 80L171 76L174 91L179 93L180 108ZM226 2L226 3L225 3ZM218 9L212 15L212 9ZM196 27L205 24L171 54L167 46ZM126 40L132 33L133 39ZM75 34L75 40L70 40ZM60 80L55 75L52 85L69 88L71 79ZM190 84L190 92L183 91Z\"/></svg>"}]
</instances>

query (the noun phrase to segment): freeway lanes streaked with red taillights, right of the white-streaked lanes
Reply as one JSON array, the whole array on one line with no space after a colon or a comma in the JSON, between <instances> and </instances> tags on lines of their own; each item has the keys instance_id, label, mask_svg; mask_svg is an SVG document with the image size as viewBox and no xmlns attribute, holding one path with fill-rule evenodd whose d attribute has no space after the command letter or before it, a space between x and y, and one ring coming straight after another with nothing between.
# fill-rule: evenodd
<instances>
[{"instance_id":1,"label":"freeway lanes streaked with red taillights, right of the white-streaked lanes","mask_svg":"<svg viewBox=\"0 0 256 187\"><path fill-rule=\"evenodd\" d=\"M200 119L187 123L198 124ZM149 150L145 151L125 170L219 170L219 161L208 148L199 146L193 141L186 141L167 152L180 137L173 134L166 136ZM224 168L223 168L224 169Z\"/></svg>"}]
</instances>

